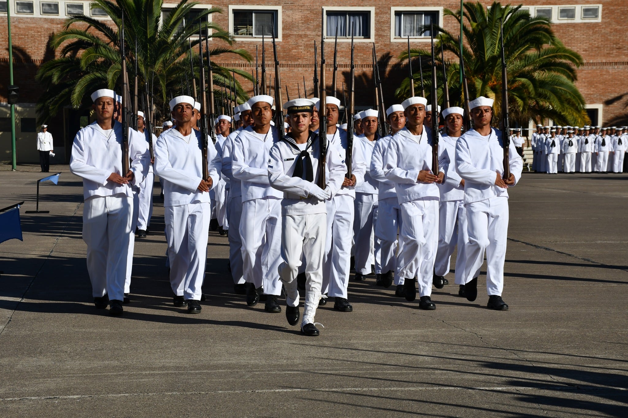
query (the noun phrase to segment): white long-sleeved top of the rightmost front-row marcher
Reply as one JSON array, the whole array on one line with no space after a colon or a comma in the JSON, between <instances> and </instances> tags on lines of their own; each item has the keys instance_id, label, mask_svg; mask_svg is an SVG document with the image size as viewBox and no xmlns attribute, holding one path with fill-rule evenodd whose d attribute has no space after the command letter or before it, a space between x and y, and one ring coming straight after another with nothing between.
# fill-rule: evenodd
<instances>
[{"instance_id":1,"label":"white long-sleeved top of the rightmost front-row marcher","mask_svg":"<svg viewBox=\"0 0 628 418\"><path fill-rule=\"evenodd\" d=\"M523 161L514 144L508 149L510 172L517 184ZM456 171L465 180L465 204L484 201L495 196L508 197L507 189L495 185L497 173L504 174L504 148L501 132L491 128L483 137L475 129L465 132L456 143ZM510 186L512 187L512 186Z\"/></svg>"}]
</instances>

